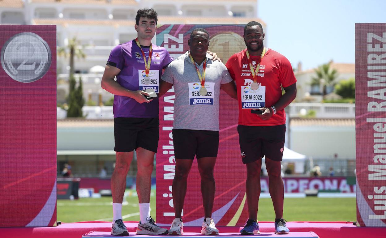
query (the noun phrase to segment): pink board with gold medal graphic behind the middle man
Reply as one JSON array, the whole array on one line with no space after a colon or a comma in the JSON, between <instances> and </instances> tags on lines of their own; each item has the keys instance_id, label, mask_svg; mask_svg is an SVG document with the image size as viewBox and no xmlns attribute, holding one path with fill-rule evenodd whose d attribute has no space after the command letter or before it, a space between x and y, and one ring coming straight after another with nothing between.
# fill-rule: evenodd
<instances>
[{"instance_id":1,"label":"pink board with gold medal graphic behind the middle man","mask_svg":"<svg viewBox=\"0 0 386 238\"><path fill-rule=\"evenodd\" d=\"M208 31L210 36L209 50L216 52L224 64L230 56L245 49L242 37L244 25L159 25L156 44L165 47L171 56L177 58L189 50L190 33L198 27ZM197 91L197 98L213 100L209 96L201 96L202 94L207 95L210 85L206 89L207 92L203 91L205 88L202 89L198 76L197 81L190 84L192 84L189 86L190 93L193 90ZM176 165L172 136L174 98L172 88L159 100L160 140L156 155L157 224L170 224L174 219L171 192ZM195 103L191 103L192 106L193 104ZM239 135L236 129L238 115L237 100L221 91L220 143L214 169L216 194L212 215L217 226L242 226L248 219L245 196L246 170L241 160ZM188 177L183 209L184 225L201 225L203 217L200 174L195 159Z\"/></svg>"}]
</instances>

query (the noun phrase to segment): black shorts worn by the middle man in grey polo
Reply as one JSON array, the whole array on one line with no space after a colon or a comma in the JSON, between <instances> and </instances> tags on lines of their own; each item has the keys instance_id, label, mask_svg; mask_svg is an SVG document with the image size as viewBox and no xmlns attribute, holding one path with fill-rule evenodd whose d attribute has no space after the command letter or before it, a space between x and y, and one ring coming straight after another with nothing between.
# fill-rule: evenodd
<instances>
[{"instance_id":1,"label":"black shorts worn by the middle man in grey polo","mask_svg":"<svg viewBox=\"0 0 386 238\"><path fill-rule=\"evenodd\" d=\"M173 129L174 157L197 159L217 157L218 131Z\"/></svg>"}]
</instances>

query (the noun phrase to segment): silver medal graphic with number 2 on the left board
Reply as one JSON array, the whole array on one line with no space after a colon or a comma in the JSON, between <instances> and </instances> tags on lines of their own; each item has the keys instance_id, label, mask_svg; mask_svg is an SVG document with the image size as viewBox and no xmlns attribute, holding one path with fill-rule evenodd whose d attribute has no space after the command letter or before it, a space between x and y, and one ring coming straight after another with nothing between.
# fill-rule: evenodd
<instances>
[{"instance_id":1,"label":"silver medal graphic with number 2 on the left board","mask_svg":"<svg viewBox=\"0 0 386 238\"><path fill-rule=\"evenodd\" d=\"M47 73L51 65L51 50L39 35L22 32L5 42L1 50L1 64L12 79L31 83Z\"/></svg>"}]
</instances>

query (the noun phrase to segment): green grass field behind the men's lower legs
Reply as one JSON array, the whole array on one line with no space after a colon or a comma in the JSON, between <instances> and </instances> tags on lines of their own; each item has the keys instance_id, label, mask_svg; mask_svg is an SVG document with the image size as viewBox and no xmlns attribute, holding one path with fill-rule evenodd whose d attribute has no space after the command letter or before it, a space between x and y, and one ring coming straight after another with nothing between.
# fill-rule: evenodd
<instances>
[{"instance_id":1,"label":"green grass field behind the men's lower legs","mask_svg":"<svg viewBox=\"0 0 386 238\"><path fill-rule=\"evenodd\" d=\"M129 194L133 191L128 190ZM152 190L151 216L156 219L156 197ZM122 215L125 221L138 221L138 198L127 196ZM61 222L112 221L112 198L80 198L58 200L57 218ZM284 218L287 221L356 221L356 198L285 198ZM273 221L274 211L270 198L259 201L259 221Z\"/></svg>"}]
</instances>

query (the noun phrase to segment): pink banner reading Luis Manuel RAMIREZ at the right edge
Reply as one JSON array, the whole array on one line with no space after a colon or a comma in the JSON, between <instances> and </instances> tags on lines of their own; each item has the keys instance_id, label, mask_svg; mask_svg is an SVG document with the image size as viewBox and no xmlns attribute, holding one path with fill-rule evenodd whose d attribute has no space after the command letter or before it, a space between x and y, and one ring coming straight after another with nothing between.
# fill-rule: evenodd
<instances>
[{"instance_id":1,"label":"pink banner reading Luis Manuel RAMIREZ at the right edge","mask_svg":"<svg viewBox=\"0 0 386 238\"><path fill-rule=\"evenodd\" d=\"M386 24L355 24L357 221L386 226Z\"/></svg>"}]
</instances>

